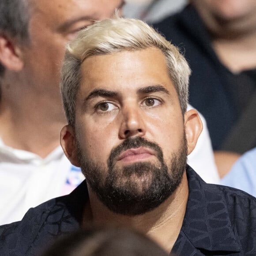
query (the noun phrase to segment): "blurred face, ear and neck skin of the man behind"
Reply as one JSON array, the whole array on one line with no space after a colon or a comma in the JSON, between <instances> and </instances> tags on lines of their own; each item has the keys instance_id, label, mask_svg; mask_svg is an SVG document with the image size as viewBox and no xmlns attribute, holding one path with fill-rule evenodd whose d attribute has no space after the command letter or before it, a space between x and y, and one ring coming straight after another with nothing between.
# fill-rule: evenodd
<instances>
[{"instance_id":1,"label":"blurred face, ear and neck skin of the man behind","mask_svg":"<svg viewBox=\"0 0 256 256\"><path fill-rule=\"evenodd\" d=\"M66 123L60 100L65 45L76 32L112 17L122 0L29 0L30 43L0 36L0 136L10 147L47 156L59 145Z\"/></svg>"}]
</instances>

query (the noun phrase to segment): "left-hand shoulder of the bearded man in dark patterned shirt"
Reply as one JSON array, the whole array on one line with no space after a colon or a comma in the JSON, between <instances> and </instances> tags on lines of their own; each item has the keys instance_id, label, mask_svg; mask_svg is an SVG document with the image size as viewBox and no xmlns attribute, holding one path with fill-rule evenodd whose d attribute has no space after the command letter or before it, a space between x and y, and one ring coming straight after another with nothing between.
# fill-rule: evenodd
<instances>
[{"instance_id":1,"label":"left-hand shoulder of the bearded man in dark patterned shirt","mask_svg":"<svg viewBox=\"0 0 256 256\"><path fill-rule=\"evenodd\" d=\"M74 196L49 200L30 208L21 221L0 226L0 255L38 255L57 236L77 230L81 207Z\"/></svg>"}]
</instances>

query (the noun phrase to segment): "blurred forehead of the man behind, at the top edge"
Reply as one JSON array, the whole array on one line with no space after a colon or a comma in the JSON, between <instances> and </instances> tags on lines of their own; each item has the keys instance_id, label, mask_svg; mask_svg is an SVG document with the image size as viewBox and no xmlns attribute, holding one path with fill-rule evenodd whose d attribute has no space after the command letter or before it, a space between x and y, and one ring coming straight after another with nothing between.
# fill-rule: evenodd
<instances>
[{"instance_id":1,"label":"blurred forehead of the man behind, at the top edge","mask_svg":"<svg viewBox=\"0 0 256 256\"><path fill-rule=\"evenodd\" d=\"M109 13L113 14L122 3L122 0L30 0L30 9L32 18L37 15L47 20L61 21L81 15L100 20L109 18Z\"/></svg>"}]
</instances>

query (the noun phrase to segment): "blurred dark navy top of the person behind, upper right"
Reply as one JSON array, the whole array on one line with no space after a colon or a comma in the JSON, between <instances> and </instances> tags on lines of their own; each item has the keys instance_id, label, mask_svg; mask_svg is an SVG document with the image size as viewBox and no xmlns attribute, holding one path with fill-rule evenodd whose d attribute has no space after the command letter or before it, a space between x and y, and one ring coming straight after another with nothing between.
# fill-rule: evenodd
<instances>
[{"instance_id":1,"label":"blurred dark navy top of the person behind, upper right","mask_svg":"<svg viewBox=\"0 0 256 256\"><path fill-rule=\"evenodd\" d=\"M234 140L244 136L232 136L233 128L240 122L241 114L248 111L252 95L256 94L256 69L238 74L230 72L215 54L210 34L192 5L154 24L154 27L184 51L192 69L189 103L205 117L213 149L241 154L256 147L256 140L245 148L236 146ZM245 118L243 124L250 126L251 121ZM240 130L243 133L244 129ZM245 136L246 133L248 131L245 131ZM231 141L228 143L229 137Z\"/></svg>"}]
</instances>

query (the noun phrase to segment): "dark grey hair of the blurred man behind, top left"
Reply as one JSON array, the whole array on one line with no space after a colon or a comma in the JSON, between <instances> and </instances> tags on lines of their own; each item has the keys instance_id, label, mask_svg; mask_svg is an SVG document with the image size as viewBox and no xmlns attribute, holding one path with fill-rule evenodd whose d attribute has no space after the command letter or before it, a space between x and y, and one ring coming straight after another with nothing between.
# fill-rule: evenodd
<instances>
[{"instance_id":1,"label":"dark grey hair of the blurred man behind, top left","mask_svg":"<svg viewBox=\"0 0 256 256\"><path fill-rule=\"evenodd\" d=\"M15 38L19 43L29 39L29 0L0 0L0 34ZM0 64L0 76L4 74Z\"/></svg>"}]
</instances>

